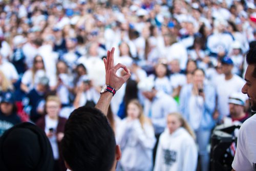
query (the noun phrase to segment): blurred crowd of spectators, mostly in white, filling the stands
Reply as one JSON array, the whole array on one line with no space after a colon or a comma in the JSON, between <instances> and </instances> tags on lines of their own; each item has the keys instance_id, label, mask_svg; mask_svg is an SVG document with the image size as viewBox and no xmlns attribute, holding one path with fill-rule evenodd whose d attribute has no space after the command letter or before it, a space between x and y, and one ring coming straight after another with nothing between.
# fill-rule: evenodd
<instances>
[{"instance_id":1,"label":"blurred crowd of spectators, mostly in white, filling the stands","mask_svg":"<svg viewBox=\"0 0 256 171\"><path fill-rule=\"evenodd\" d=\"M2 0L0 136L36 123L65 170L63 125L97 103L103 58L115 47L115 63L132 74L108 114L123 152L117 169L152 170L154 160L155 170L208 170L215 125L250 116L241 89L255 39L252 0Z\"/></svg>"}]
</instances>

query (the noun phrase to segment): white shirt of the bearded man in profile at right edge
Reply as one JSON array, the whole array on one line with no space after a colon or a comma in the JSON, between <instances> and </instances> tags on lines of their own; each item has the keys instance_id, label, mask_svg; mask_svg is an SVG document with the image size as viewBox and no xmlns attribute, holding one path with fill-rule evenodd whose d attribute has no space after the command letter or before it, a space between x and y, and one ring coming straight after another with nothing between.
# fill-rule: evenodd
<instances>
[{"instance_id":1,"label":"white shirt of the bearded man in profile at right edge","mask_svg":"<svg viewBox=\"0 0 256 171\"><path fill-rule=\"evenodd\" d=\"M241 126L238 135L236 155L232 163L234 170L256 170L256 115L251 116Z\"/></svg>"}]
</instances>

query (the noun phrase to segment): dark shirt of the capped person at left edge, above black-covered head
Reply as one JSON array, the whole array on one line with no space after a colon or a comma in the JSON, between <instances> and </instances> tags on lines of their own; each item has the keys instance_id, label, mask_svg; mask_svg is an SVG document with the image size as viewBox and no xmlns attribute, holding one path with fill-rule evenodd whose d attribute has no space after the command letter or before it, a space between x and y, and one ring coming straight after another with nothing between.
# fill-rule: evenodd
<instances>
[{"instance_id":1,"label":"dark shirt of the capped person at left edge, above black-covered head","mask_svg":"<svg viewBox=\"0 0 256 171\"><path fill-rule=\"evenodd\" d=\"M5 116L0 112L0 136L2 136L6 130L9 130L12 126L20 122L22 121L15 113Z\"/></svg>"}]
</instances>

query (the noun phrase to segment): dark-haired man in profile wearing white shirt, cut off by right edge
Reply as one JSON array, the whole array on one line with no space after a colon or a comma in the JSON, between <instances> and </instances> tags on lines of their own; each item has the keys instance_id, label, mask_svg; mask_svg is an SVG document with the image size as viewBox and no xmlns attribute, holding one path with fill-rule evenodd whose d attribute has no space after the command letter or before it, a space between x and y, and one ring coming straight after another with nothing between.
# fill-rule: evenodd
<instances>
[{"instance_id":1,"label":"dark-haired man in profile wearing white shirt, cut off by right edge","mask_svg":"<svg viewBox=\"0 0 256 171\"><path fill-rule=\"evenodd\" d=\"M250 49L246 55L248 67L245 73L246 83L242 93L247 94L251 110L256 111L256 48ZM256 170L256 115L247 119L240 127L237 151L232 163L233 170Z\"/></svg>"}]
</instances>

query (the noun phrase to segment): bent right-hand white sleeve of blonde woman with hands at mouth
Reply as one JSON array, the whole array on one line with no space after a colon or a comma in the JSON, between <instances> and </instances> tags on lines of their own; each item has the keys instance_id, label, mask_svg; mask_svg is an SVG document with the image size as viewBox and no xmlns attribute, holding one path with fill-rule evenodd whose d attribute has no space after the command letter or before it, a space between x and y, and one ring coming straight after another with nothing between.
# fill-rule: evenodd
<instances>
[{"instance_id":1,"label":"bent right-hand white sleeve of blonde woman with hands at mouth","mask_svg":"<svg viewBox=\"0 0 256 171\"><path fill-rule=\"evenodd\" d=\"M136 137L139 140L139 143L144 148L150 148L153 149L156 143L155 133L154 133L154 127L148 123L144 123L143 129L141 126L141 123L139 120L135 121L134 124L134 131L136 134Z\"/></svg>"}]
</instances>

